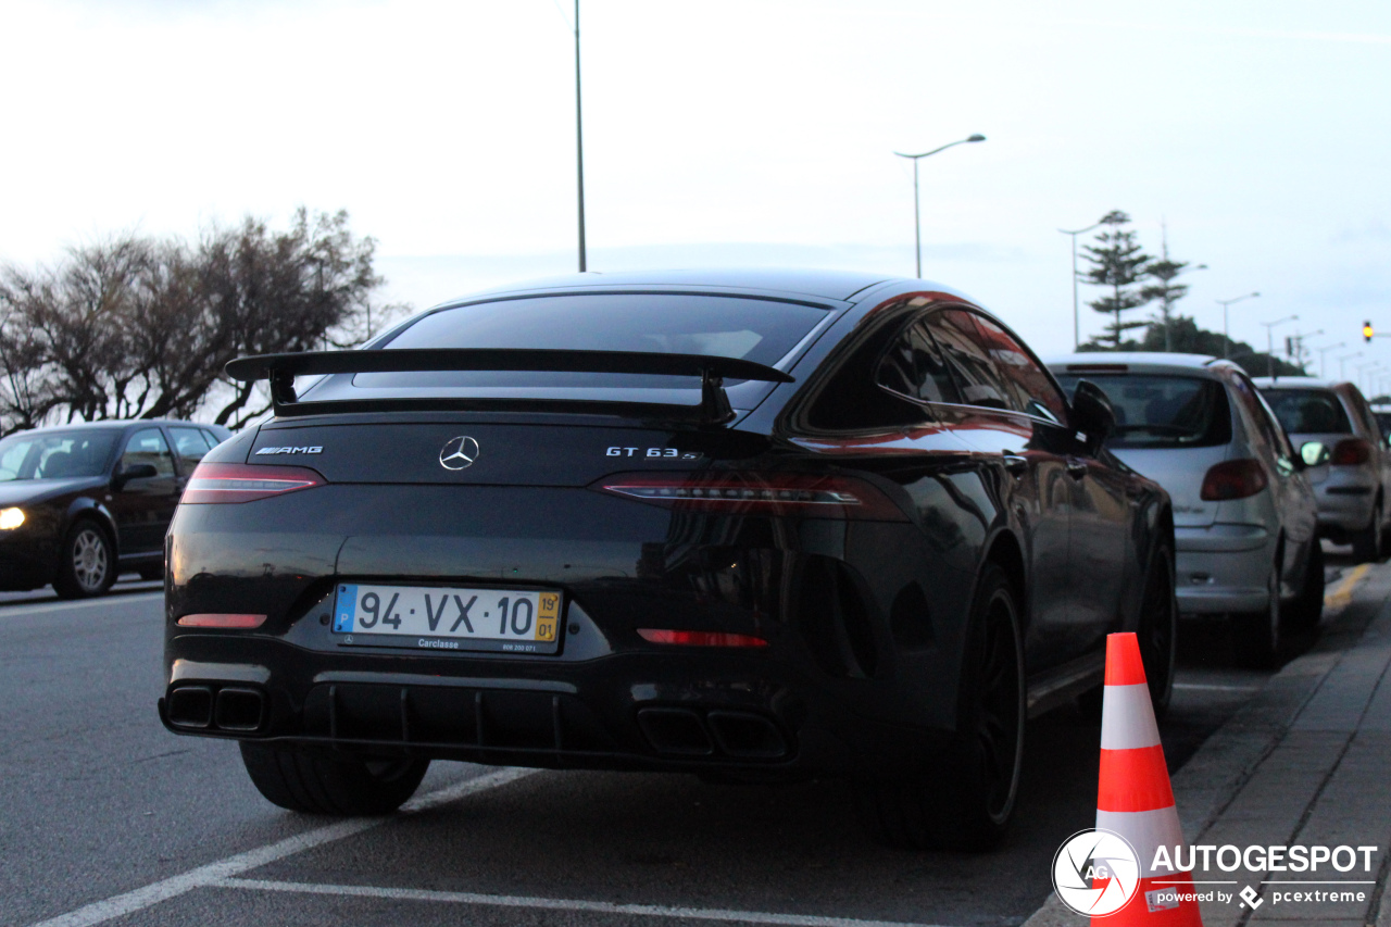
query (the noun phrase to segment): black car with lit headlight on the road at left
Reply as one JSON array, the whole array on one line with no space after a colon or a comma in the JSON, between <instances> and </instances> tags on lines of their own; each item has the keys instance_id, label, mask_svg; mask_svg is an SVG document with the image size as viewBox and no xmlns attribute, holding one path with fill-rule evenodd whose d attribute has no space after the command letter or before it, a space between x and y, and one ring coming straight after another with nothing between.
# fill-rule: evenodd
<instances>
[{"instance_id":1,"label":"black car with lit headlight on the road at left","mask_svg":"<svg viewBox=\"0 0 1391 927\"><path fill-rule=\"evenodd\" d=\"M100 596L164 575L164 532L198 462L231 433L175 420L95 422L0 440L0 589Z\"/></svg>"}]
</instances>

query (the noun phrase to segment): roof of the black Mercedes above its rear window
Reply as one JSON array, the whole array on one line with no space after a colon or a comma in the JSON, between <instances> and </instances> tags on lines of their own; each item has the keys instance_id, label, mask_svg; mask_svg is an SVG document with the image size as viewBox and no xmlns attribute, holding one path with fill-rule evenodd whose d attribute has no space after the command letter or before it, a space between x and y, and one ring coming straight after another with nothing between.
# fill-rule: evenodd
<instances>
[{"instance_id":1,"label":"roof of the black Mercedes above its rear window","mask_svg":"<svg viewBox=\"0 0 1391 927\"><path fill-rule=\"evenodd\" d=\"M632 270L622 273L583 273L527 280L483 290L440 306L456 305L480 296L541 294L545 291L581 291L608 287L700 287L730 291L785 292L822 299L844 301L875 284L897 280L892 274L853 270L804 270L778 267L730 267L697 270ZM925 288L947 288L925 284Z\"/></svg>"}]
</instances>

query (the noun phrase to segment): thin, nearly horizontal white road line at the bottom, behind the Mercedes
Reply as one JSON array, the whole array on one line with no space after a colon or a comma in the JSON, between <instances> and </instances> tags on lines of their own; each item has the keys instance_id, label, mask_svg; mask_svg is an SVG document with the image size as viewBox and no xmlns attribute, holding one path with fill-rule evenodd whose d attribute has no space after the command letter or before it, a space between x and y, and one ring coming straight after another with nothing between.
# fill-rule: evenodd
<instances>
[{"instance_id":1,"label":"thin, nearly horizontal white road line at the bottom, behind the Mercedes","mask_svg":"<svg viewBox=\"0 0 1391 927\"><path fill-rule=\"evenodd\" d=\"M590 912L597 914L637 914L643 917L682 917L686 920L725 920L740 924L779 924L785 927L932 927L932 924L921 923L857 920L854 917L823 917L819 914L779 914L764 910L672 908L668 905L618 905L613 902L583 901L574 898L479 895L474 892L441 892L423 888L378 888L376 885L320 885L312 882L268 881L262 878L224 878L214 887L242 888L263 892L298 892L306 895L352 895L357 898L389 898L392 901L427 901L449 905L488 905L492 908Z\"/></svg>"}]
</instances>

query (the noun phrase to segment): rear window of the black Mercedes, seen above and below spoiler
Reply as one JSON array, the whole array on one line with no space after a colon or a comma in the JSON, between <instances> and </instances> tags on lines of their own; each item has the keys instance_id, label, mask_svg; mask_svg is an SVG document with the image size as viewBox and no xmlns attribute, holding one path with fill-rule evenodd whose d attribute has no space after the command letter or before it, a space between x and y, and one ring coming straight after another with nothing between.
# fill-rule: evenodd
<instances>
[{"instance_id":1,"label":"rear window of the black Mercedes, seen above and below spoiler","mask_svg":"<svg viewBox=\"0 0 1391 927\"><path fill-rule=\"evenodd\" d=\"M773 365L828 315L815 306L686 294L593 294L483 302L421 317L395 348L643 351ZM359 373L359 387L679 388L691 377L440 372Z\"/></svg>"}]
</instances>

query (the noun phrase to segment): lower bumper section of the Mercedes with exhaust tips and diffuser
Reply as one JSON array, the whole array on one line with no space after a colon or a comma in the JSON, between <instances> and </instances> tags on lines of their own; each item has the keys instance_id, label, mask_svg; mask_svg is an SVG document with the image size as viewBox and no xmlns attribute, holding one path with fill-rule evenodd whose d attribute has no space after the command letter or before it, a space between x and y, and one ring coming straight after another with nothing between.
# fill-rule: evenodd
<instances>
[{"instance_id":1,"label":"lower bumper section of the Mercedes with exhaust tips and diffuser","mask_svg":"<svg viewBox=\"0 0 1391 927\"><path fill-rule=\"evenodd\" d=\"M401 658L384 670L213 635L175 639L175 650L221 661L175 660L160 700L175 734L497 766L768 778L911 770L946 738L857 715L842 686L765 654L613 654L541 674L536 664L467 657ZM238 651L246 661L228 661Z\"/></svg>"}]
</instances>

